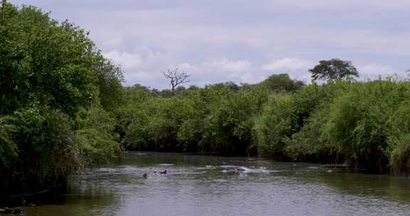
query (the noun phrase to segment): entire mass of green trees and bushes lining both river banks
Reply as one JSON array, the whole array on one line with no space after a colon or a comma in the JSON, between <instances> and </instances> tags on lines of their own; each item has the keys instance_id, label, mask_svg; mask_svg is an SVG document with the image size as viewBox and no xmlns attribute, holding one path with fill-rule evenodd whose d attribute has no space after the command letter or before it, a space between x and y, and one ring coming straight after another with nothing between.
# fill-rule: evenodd
<instances>
[{"instance_id":1,"label":"entire mass of green trees and bushes lining both river banks","mask_svg":"<svg viewBox=\"0 0 410 216\"><path fill-rule=\"evenodd\" d=\"M305 85L286 74L150 90L67 21L31 6L0 9L0 201L56 183L122 149L258 155L410 171L410 82L357 82L321 61ZM164 82L167 80L164 79Z\"/></svg>"}]
</instances>

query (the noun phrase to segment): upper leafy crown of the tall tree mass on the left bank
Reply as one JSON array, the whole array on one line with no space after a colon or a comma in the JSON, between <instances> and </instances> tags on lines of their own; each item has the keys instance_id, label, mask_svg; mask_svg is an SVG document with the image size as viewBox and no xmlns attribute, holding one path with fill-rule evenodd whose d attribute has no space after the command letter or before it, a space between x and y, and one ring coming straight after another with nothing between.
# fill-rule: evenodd
<instances>
[{"instance_id":1,"label":"upper leafy crown of the tall tree mass on the left bank","mask_svg":"<svg viewBox=\"0 0 410 216\"><path fill-rule=\"evenodd\" d=\"M33 101L72 117L98 99L114 106L122 72L102 58L88 33L32 6L6 4L0 13L0 114Z\"/></svg>"}]
</instances>

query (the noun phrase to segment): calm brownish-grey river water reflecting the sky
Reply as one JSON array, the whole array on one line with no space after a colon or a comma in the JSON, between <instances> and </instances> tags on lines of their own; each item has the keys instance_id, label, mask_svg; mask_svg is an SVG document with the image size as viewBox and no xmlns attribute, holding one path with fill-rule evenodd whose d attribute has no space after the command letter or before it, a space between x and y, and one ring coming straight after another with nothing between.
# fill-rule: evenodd
<instances>
[{"instance_id":1,"label":"calm brownish-grey river water reflecting the sky","mask_svg":"<svg viewBox=\"0 0 410 216\"><path fill-rule=\"evenodd\" d=\"M236 171L241 166L244 171ZM167 175L154 173L165 171ZM142 178L149 173L147 179ZM410 179L314 163L127 152L26 215L410 215Z\"/></svg>"}]
</instances>

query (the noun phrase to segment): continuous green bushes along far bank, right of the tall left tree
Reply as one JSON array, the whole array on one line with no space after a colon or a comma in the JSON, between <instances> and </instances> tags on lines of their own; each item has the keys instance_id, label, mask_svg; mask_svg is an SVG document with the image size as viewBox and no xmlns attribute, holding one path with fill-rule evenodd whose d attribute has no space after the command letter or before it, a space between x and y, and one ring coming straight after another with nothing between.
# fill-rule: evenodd
<instances>
[{"instance_id":1,"label":"continuous green bushes along far bank, right of the tall left tree","mask_svg":"<svg viewBox=\"0 0 410 216\"><path fill-rule=\"evenodd\" d=\"M115 112L128 149L259 155L410 171L410 82L332 80L304 86L288 75L176 91L125 88Z\"/></svg>"}]
</instances>

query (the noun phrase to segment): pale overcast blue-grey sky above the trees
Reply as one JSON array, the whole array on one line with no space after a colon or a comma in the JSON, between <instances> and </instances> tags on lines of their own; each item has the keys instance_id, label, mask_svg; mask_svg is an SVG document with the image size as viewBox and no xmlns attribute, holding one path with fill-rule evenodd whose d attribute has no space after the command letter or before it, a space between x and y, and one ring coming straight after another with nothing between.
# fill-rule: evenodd
<instances>
[{"instance_id":1,"label":"pale overcast blue-grey sky above the trees","mask_svg":"<svg viewBox=\"0 0 410 216\"><path fill-rule=\"evenodd\" d=\"M340 58L362 80L406 77L409 0L9 0L51 11L90 31L124 85L164 89L161 71L179 68L186 85L261 82L288 73L310 81L320 60Z\"/></svg>"}]
</instances>

